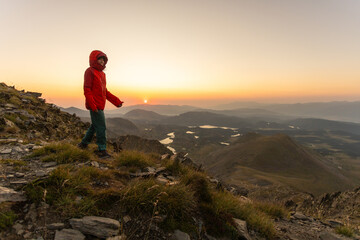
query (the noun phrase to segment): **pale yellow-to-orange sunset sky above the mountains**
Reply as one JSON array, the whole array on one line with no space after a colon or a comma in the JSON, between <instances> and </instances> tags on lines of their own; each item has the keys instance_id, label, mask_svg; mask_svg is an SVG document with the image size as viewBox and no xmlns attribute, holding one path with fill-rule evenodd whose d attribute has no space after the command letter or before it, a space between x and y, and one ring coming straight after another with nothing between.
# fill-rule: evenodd
<instances>
[{"instance_id":1,"label":"pale yellow-to-orange sunset sky above the mountains","mask_svg":"<svg viewBox=\"0 0 360 240\"><path fill-rule=\"evenodd\" d=\"M0 0L0 81L84 108L99 49L126 105L360 100L359 26L358 0Z\"/></svg>"}]
</instances>

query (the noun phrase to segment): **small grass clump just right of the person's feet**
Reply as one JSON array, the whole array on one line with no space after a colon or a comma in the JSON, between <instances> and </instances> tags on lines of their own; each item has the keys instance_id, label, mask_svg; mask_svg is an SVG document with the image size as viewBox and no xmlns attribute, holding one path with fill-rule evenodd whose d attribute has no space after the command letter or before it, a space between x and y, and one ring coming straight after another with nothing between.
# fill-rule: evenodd
<instances>
[{"instance_id":1,"label":"small grass clump just right of the person's feet","mask_svg":"<svg viewBox=\"0 0 360 240\"><path fill-rule=\"evenodd\" d=\"M115 159L115 167L145 168L154 166L157 158L152 154L145 154L137 151L122 151Z\"/></svg>"}]
</instances>

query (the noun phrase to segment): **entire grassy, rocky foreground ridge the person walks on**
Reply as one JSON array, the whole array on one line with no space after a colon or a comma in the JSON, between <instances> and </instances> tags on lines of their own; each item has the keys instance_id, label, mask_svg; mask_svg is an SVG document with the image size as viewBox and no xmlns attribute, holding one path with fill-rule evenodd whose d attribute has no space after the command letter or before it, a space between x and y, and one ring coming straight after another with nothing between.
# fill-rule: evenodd
<instances>
[{"instance_id":1,"label":"entire grassy, rocky foreground ridge the person walks on","mask_svg":"<svg viewBox=\"0 0 360 240\"><path fill-rule=\"evenodd\" d=\"M76 146L87 124L40 97L0 85L0 239L359 238L345 217L359 219L358 189L283 205L258 186L252 198L136 136L109 139L99 159Z\"/></svg>"}]
</instances>

